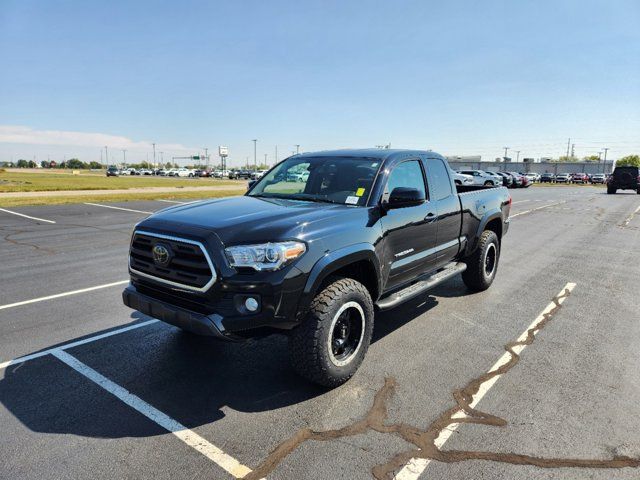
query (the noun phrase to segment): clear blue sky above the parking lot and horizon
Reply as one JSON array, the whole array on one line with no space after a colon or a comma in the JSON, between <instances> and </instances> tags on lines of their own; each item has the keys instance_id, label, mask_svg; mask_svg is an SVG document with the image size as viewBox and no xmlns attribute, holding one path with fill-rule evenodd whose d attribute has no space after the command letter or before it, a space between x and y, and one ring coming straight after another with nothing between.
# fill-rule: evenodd
<instances>
[{"instance_id":1,"label":"clear blue sky above the parking lot and horizon","mask_svg":"<svg viewBox=\"0 0 640 480\"><path fill-rule=\"evenodd\" d=\"M0 2L0 160L640 153L640 2Z\"/></svg>"}]
</instances>

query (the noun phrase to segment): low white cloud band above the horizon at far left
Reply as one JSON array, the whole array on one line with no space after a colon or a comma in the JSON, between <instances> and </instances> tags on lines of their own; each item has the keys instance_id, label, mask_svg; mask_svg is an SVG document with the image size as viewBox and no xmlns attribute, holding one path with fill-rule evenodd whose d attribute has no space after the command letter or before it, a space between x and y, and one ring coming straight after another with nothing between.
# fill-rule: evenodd
<instances>
[{"instance_id":1,"label":"low white cloud band above the horizon at far left","mask_svg":"<svg viewBox=\"0 0 640 480\"><path fill-rule=\"evenodd\" d=\"M135 141L127 137L109 135L107 133L35 130L20 125L0 125L0 143L85 148L103 148L104 146L108 146L109 148L127 149L131 151L149 151L153 148L151 142ZM179 143L156 144L156 150L198 151L197 148L190 148Z\"/></svg>"}]
</instances>

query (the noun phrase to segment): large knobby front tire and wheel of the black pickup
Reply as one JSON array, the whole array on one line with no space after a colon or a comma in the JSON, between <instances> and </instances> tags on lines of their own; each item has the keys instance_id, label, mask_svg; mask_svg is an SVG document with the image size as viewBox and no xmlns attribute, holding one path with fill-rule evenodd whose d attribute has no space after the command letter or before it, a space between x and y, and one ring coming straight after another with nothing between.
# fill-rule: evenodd
<instances>
[{"instance_id":1,"label":"large knobby front tire and wheel of the black pickup","mask_svg":"<svg viewBox=\"0 0 640 480\"><path fill-rule=\"evenodd\" d=\"M373 301L351 278L336 278L311 302L302 324L291 332L291 364L324 387L349 380L364 359L373 333Z\"/></svg>"}]
</instances>

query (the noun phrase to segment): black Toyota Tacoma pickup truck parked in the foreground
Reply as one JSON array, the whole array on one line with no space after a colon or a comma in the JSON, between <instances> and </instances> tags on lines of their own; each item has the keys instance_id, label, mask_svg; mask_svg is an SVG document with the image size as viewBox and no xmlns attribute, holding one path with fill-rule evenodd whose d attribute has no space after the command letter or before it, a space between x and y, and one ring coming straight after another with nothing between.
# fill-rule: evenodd
<instances>
[{"instance_id":1,"label":"black Toyota Tacoma pickup truck parked in the foreground","mask_svg":"<svg viewBox=\"0 0 640 480\"><path fill-rule=\"evenodd\" d=\"M459 273L489 288L510 208L506 188L456 186L431 151L294 155L243 196L136 225L123 299L200 335L286 332L293 367L336 386L362 363L376 309Z\"/></svg>"}]
</instances>

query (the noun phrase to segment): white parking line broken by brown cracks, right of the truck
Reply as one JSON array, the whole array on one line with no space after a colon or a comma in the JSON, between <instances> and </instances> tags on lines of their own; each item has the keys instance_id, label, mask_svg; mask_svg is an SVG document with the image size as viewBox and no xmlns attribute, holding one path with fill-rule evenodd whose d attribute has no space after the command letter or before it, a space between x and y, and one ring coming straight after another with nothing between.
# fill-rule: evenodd
<instances>
[{"instance_id":1,"label":"white parking line broken by brown cracks, right of the truck","mask_svg":"<svg viewBox=\"0 0 640 480\"><path fill-rule=\"evenodd\" d=\"M576 286L575 283L567 283L563 287L563 289L560 291L560 293L556 297L558 298L557 300L558 304L561 305L564 302L566 296L564 296L563 294L566 291L571 293L575 288L575 286ZM540 312L540 315L536 317L536 319L531 323L531 325L529 325L526 328L526 330L518 337L517 341L524 342L527 339L529 331L532 331L533 335L535 336L538 333L538 331L535 330L536 327L542 321L544 321L545 316L548 315L549 312L551 312L554 308L556 308L556 303L552 301L549 303L549 305L545 307L545 309L542 312ZM520 353L522 353L522 351L526 347L527 345L516 345L513 347L513 351L517 355L520 355ZM504 352L504 354L498 359L498 361L489 369L489 372L493 372L497 370L502 365L509 362L509 360L511 360L511 354L509 352ZM478 403L480 403L480 400L482 400L482 398L487 394L487 392L489 392L491 387L495 385L495 383L500 379L501 376L502 375L495 375L493 377L490 377L484 383L482 383L480 385L480 388L478 389L478 392L473 396L473 400L469 403L469 406L471 408L476 408ZM452 418L456 418L456 419L464 418L465 416L466 414L464 413L464 411L459 410L458 413L454 414ZM451 435L453 435L453 433L458 429L460 425L461 425L460 423L452 423L448 425L447 428L441 430L440 434L434 441L435 446L438 447L438 449L441 449L444 446L444 444L447 442L447 440L451 438ZM420 475L426 470L426 468L429 466L430 463L431 463L430 459L412 458L411 460L409 460L409 462L407 462L407 464L404 467L402 467L402 470L398 472L398 474L394 477L394 480L417 480L420 477Z\"/></svg>"}]
</instances>

